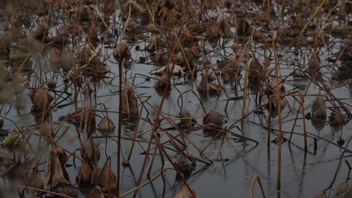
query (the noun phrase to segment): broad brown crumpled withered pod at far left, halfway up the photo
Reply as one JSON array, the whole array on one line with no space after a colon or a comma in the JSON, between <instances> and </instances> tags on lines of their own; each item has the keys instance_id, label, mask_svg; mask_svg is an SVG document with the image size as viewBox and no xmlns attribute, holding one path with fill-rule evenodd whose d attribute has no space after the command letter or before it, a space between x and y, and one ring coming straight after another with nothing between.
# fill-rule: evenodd
<instances>
[{"instance_id":1,"label":"broad brown crumpled withered pod at far left, halfway up the photo","mask_svg":"<svg viewBox=\"0 0 352 198\"><path fill-rule=\"evenodd\" d=\"M33 95L32 112L47 110L50 107L50 102L54 99L45 89L38 89Z\"/></svg>"}]
</instances>

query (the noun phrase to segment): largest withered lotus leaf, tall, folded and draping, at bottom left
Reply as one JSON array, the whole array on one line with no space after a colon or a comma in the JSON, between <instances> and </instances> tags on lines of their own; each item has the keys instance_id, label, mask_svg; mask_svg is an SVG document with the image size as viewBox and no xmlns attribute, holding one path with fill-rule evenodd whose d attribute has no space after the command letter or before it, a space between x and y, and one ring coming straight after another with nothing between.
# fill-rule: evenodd
<instances>
[{"instance_id":1,"label":"largest withered lotus leaf, tall, folded and draping, at bottom left","mask_svg":"<svg viewBox=\"0 0 352 198\"><path fill-rule=\"evenodd\" d=\"M44 174L44 189L55 189L62 185L69 185L68 173L65 169L66 152L59 146L51 149Z\"/></svg>"}]
</instances>

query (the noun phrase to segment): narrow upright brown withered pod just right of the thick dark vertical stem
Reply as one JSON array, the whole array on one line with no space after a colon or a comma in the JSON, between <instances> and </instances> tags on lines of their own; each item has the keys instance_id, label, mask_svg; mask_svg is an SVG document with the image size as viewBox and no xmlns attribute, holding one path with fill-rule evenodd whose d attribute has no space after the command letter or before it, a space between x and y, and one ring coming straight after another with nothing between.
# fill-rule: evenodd
<instances>
[{"instance_id":1,"label":"narrow upright brown withered pod just right of the thick dark vertical stem","mask_svg":"<svg viewBox=\"0 0 352 198\"><path fill-rule=\"evenodd\" d=\"M134 96L133 89L131 85L125 83L124 87L124 96L122 96L122 103L124 106L122 107L122 112L131 114L131 115L138 115L138 101L137 98Z\"/></svg>"}]
</instances>

